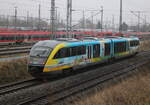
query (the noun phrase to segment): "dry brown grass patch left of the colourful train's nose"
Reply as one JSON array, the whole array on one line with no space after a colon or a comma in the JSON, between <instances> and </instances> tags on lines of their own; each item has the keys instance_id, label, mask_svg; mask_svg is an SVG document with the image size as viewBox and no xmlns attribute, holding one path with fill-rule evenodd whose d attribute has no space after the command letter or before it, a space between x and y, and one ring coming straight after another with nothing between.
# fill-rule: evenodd
<instances>
[{"instance_id":1,"label":"dry brown grass patch left of the colourful train's nose","mask_svg":"<svg viewBox=\"0 0 150 105\"><path fill-rule=\"evenodd\" d=\"M27 59L0 62L0 84L31 77L27 72Z\"/></svg>"}]
</instances>

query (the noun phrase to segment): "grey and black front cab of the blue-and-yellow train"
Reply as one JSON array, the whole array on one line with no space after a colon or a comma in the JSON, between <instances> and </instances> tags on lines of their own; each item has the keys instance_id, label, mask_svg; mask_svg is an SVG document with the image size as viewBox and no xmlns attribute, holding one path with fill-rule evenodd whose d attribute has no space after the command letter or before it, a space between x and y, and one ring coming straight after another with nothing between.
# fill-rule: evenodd
<instances>
[{"instance_id":1,"label":"grey and black front cab of the blue-and-yellow train","mask_svg":"<svg viewBox=\"0 0 150 105\"><path fill-rule=\"evenodd\" d=\"M28 71L31 75L43 73L44 66L56 46L53 41L40 41L35 44L29 56Z\"/></svg>"}]
</instances>

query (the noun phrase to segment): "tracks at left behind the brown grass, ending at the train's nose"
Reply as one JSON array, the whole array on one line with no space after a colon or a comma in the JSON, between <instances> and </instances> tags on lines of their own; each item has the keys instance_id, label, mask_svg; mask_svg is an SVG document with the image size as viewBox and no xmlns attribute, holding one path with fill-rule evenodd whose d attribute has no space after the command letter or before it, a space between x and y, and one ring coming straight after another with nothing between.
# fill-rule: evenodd
<instances>
[{"instance_id":1,"label":"tracks at left behind the brown grass, ending at the train's nose","mask_svg":"<svg viewBox=\"0 0 150 105\"><path fill-rule=\"evenodd\" d=\"M29 53L32 46L1 48L0 56Z\"/></svg>"}]
</instances>

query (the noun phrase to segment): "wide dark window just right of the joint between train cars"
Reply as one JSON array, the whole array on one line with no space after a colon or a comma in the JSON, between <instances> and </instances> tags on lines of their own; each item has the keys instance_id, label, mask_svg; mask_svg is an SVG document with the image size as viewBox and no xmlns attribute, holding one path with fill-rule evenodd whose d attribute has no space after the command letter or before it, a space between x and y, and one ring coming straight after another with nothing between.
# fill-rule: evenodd
<instances>
[{"instance_id":1,"label":"wide dark window just right of the joint between train cars","mask_svg":"<svg viewBox=\"0 0 150 105\"><path fill-rule=\"evenodd\" d=\"M125 52L127 49L126 42L117 42L114 44L114 53Z\"/></svg>"}]
</instances>

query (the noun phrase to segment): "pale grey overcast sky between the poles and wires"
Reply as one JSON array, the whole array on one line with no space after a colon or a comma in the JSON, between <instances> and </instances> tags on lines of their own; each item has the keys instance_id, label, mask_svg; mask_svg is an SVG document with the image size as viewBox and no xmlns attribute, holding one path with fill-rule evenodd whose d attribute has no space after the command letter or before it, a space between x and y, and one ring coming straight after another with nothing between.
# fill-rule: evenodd
<instances>
[{"instance_id":1,"label":"pale grey overcast sky between the poles and wires","mask_svg":"<svg viewBox=\"0 0 150 105\"><path fill-rule=\"evenodd\" d=\"M66 1L56 0L56 7L62 19L66 18ZM26 16L27 11L30 16L38 16L38 5L41 4L42 18L50 17L50 2L51 0L0 0L0 14L1 15L14 15L14 7L18 7L18 16ZM100 10L101 6L104 7L104 21L111 22L112 17L115 18L115 23L118 23L119 18L119 2L120 0L73 0L74 10ZM144 18L150 20L150 0L123 0L123 21L136 24L137 17L130 11L142 11L141 22ZM93 12L93 14L97 11ZM137 13L136 13L137 14ZM85 12L86 17L91 16L91 11ZM73 22L76 23L82 18L81 11L73 12ZM100 15L94 17L94 21L98 21Z\"/></svg>"}]
</instances>

